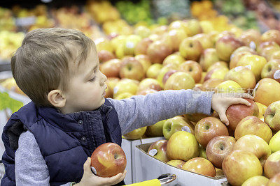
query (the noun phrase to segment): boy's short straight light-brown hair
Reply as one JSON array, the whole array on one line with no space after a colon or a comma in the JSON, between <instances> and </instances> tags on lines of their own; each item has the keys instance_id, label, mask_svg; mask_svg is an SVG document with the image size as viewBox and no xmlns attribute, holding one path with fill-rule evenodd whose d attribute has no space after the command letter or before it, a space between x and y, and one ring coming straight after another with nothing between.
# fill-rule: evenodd
<instances>
[{"instance_id":1,"label":"boy's short straight light-brown hair","mask_svg":"<svg viewBox=\"0 0 280 186\"><path fill-rule=\"evenodd\" d=\"M73 49L78 47L79 54ZM69 63L80 64L94 42L84 33L71 29L36 29L30 31L11 59L15 82L38 106L52 107L48 93L57 88L67 89Z\"/></svg>"}]
</instances>

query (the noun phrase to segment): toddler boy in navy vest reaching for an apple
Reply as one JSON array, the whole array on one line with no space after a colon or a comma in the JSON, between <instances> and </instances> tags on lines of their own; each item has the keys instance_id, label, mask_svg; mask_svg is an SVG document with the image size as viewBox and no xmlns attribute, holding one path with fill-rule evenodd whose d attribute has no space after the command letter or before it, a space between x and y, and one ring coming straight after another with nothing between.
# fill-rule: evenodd
<instances>
[{"instance_id":1,"label":"toddler boy in navy vest reaching for an apple","mask_svg":"<svg viewBox=\"0 0 280 186\"><path fill-rule=\"evenodd\" d=\"M120 145L122 134L186 113L210 114L211 107L228 123L225 111L231 104L250 104L206 92L193 96L191 90L105 99L106 76L99 71L94 42L69 29L27 33L11 66L32 102L4 127L1 185L115 185L125 172L100 178L90 170L97 146Z\"/></svg>"}]
</instances>

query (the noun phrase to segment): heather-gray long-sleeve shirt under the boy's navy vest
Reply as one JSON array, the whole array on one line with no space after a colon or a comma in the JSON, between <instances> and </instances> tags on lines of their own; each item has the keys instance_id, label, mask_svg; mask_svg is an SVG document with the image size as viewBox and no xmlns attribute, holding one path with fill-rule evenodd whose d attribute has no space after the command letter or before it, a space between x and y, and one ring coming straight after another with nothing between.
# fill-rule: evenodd
<instances>
[{"instance_id":1,"label":"heather-gray long-sleeve shirt under the boy's navy vest","mask_svg":"<svg viewBox=\"0 0 280 186\"><path fill-rule=\"evenodd\" d=\"M160 91L134 96L125 100L108 99L115 107L122 134L139 127L183 114L211 112L212 93L191 90ZM20 135L15 152L15 181L17 185L50 185L48 166L41 155L34 135ZM64 185L69 185L66 183Z\"/></svg>"}]
</instances>

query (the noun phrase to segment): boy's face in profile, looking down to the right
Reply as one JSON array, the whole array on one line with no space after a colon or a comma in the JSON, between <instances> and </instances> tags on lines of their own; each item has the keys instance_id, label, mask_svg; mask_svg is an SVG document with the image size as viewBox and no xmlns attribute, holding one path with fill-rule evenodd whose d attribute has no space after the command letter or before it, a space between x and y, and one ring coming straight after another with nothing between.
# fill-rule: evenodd
<instances>
[{"instance_id":1,"label":"boy's face in profile, looking down to the right","mask_svg":"<svg viewBox=\"0 0 280 186\"><path fill-rule=\"evenodd\" d=\"M99 70L97 52L91 49L85 62L80 65L71 64L69 68L75 70L70 75L68 91L64 93L66 98L65 109L67 113L77 111L90 111L104 104L106 76Z\"/></svg>"}]
</instances>

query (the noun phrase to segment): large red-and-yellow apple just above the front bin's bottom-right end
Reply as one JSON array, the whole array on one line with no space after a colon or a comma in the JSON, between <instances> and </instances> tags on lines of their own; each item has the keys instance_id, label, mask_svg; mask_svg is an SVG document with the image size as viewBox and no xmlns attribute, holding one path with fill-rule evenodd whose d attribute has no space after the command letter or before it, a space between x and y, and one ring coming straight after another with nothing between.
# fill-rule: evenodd
<instances>
[{"instance_id":1,"label":"large red-and-yellow apple just above the front bin's bottom-right end","mask_svg":"<svg viewBox=\"0 0 280 186\"><path fill-rule=\"evenodd\" d=\"M223 173L231 185L242 185L248 178L261 176L262 165L253 153L233 150L223 160Z\"/></svg>"}]
</instances>

